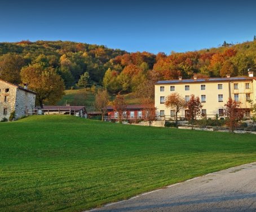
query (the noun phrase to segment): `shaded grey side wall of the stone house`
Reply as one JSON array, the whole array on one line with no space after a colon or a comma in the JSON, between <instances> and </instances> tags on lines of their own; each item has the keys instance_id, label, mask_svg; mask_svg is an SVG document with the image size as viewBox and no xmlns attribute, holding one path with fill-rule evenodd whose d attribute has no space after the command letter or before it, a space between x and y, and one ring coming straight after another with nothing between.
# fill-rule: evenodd
<instances>
[{"instance_id":1,"label":"shaded grey side wall of the stone house","mask_svg":"<svg viewBox=\"0 0 256 212\"><path fill-rule=\"evenodd\" d=\"M15 102L15 118L19 118L27 114L27 109L34 109L36 95L17 88Z\"/></svg>"}]
</instances>

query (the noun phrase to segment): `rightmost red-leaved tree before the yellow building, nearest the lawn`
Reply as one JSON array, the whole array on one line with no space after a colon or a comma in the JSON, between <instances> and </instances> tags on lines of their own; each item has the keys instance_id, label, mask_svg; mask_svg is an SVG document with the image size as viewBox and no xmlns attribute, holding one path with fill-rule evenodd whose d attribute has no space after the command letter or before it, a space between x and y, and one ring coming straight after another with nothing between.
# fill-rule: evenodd
<instances>
[{"instance_id":1,"label":"rightmost red-leaved tree before the yellow building, nearest the lawn","mask_svg":"<svg viewBox=\"0 0 256 212\"><path fill-rule=\"evenodd\" d=\"M238 125L238 122L244 117L244 113L241 111L240 101L228 99L227 103L224 104L226 107L224 109L224 114L227 117L226 124L229 126L229 131L233 132L235 127Z\"/></svg>"}]
</instances>

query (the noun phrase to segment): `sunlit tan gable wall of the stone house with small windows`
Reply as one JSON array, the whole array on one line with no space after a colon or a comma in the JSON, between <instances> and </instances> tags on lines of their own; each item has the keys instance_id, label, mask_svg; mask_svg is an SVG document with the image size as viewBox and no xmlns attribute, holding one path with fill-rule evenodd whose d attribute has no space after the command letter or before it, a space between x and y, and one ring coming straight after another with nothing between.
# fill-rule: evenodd
<instances>
[{"instance_id":1,"label":"sunlit tan gable wall of the stone house with small windows","mask_svg":"<svg viewBox=\"0 0 256 212\"><path fill-rule=\"evenodd\" d=\"M16 90L16 86L0 81L0 121L3 118L8 119L15 110ZM4 114L5 110L6 114Z\"/></svg>"}]
</instances>

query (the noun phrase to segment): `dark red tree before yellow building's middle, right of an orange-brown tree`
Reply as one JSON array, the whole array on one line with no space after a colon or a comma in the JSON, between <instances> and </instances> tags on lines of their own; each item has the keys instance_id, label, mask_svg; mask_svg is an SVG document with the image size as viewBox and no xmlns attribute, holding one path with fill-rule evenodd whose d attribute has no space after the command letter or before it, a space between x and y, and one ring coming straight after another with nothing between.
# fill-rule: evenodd
<instances>
[{"instance_id":1,"label":"dark red tree before yellow building's middle, right of an orange-brown tree","mask_svg":"<svg viewBox=\"0 0 256 212\"><path fill-rule=\"evenodd\" d=\"M195 95L191 95L189 101L187 102L187 117L188 120L191 120L193 123L196 120L196 116L201 114L202 104L199 97L195 97Z\"/></svg>"}]
</instances>

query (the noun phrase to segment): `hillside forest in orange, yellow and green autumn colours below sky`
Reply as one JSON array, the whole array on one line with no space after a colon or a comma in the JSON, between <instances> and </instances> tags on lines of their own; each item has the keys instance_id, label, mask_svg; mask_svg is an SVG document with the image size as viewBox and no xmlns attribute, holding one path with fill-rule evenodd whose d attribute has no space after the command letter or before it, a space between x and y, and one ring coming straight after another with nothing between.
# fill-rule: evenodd
<instances>
[{"instance_id":1,"label":"hillside forest in orange, yellow and green autumn colours below sky","mask_svg":"<svg viewBox=\"0 0 256 212\"><path fill-rule=\"evenodd\" d=\"M90 83L97 83L109 92L141 90L157 80L183 76L224 77L247 75L256 64L256 41L184 53L128 53L105 46L69 41L21 41L0 43L0 77L21 83L20 70L33 64L52 67L65 87L70 88L88 72Z\"/></svg>"}]
</instances>

